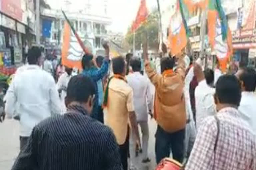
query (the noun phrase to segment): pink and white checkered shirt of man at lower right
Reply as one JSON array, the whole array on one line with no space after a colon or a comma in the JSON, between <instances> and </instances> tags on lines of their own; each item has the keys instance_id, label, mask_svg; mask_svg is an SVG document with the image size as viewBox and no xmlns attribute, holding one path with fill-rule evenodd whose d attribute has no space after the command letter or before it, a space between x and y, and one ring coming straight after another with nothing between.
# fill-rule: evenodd
<instances>
[{"instance_id":1,"label":"pink and white checkered shirt of man at lower right","mask_svg":"<svg viewBox=\"0 0 256 170\"><path fill-rule=\"evenodd\" d=\"M256 137L234 108L217 113L219 138L214 117L206 118L199 128L186 170L256 170ZM214 164L214 165L213 165Z\"/></svg>"}]
</instances>

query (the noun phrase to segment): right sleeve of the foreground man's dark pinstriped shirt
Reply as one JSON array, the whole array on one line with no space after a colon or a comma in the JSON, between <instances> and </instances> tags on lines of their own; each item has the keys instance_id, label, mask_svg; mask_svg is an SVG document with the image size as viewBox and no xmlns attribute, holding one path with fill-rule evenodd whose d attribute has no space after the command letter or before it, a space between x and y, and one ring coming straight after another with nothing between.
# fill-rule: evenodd
<instances>
[{"instance_id":1,"label":"right sleeve of the foreground man's dark pinstriped shirt","mask_svg":"<svg viewBox=\"0 0 256 170\"><path fill-rule=\"evenodd\" d=\"M122 170L122 163L119 154L119 146L116 142L116 138L113 132L110 133L108 144L103 156L103 167L104 170Z\"/></svg>"}]
</instances>

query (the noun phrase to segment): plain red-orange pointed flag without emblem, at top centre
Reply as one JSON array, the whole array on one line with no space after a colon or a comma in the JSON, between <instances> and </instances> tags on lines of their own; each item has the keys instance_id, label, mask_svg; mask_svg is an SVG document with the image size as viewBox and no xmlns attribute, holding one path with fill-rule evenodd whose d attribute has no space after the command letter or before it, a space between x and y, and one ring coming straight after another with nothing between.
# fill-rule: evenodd
<instances>
[{"instance_id":1,"label":"plain red-orange pointed flag without emblem, at top centre","mask_svg":"<svg viewBox=\"0 0 256 170\"><path fill-rule=\"evenodd\" d=\"M148 9L146 5L146 0L141 0L136 19L132 24L132 32L136 31L140 27L140 25L147 20L147 17L148 17Z\"/></svg>"}]
</instances>

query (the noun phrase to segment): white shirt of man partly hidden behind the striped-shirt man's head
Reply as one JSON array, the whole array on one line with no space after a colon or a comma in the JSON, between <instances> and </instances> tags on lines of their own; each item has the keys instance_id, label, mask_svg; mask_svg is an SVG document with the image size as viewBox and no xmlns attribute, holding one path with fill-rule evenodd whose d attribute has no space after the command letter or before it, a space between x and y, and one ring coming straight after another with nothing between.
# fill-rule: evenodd
<instances>
[{"instance_id":1,"label":"white shirt of man partly hidden behind the striped-shirt man's head","mask_svg":"<svg viewBox=\"0 0 256 170\"><path fill-rule=\"evenodd\" d=\"M69 80L71 79L71 75L68 75L67 72L61 74L58 82L57 82L57 88L58 89L61 89L64 87L64 89L67 89L68 87L68 83L69 83ZM62 113L65 113L67 111L66 109L66 105L65 105L65 97L67 96L67 92L66 90L62 90L61 91L61 94L60 94L60 100L61 100L61 104L62 104Z\"/></svg>"}]
</instances>

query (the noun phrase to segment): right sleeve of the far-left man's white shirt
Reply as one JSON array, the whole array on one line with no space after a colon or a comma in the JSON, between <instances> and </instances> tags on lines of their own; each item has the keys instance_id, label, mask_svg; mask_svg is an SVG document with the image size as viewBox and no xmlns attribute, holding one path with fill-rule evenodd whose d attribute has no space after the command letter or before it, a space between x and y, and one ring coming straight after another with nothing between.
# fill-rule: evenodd
<instances>
[{"instance_id":1,"label":"right sleeve of the far-left man's white shirt","mask_svg":"<svg viewBox=\"0 0 256 170\"><path fill-rule=\"evenodd\" d=\"M61 114L61 102L59 98L59 93L57 90L57 85L54 82L54 79L51 77L50 79L50 90L49 90L49 95L50 95L50 109L51 109L51 114L53 115L59 115Z\"/></svg>"}]
</instances>

